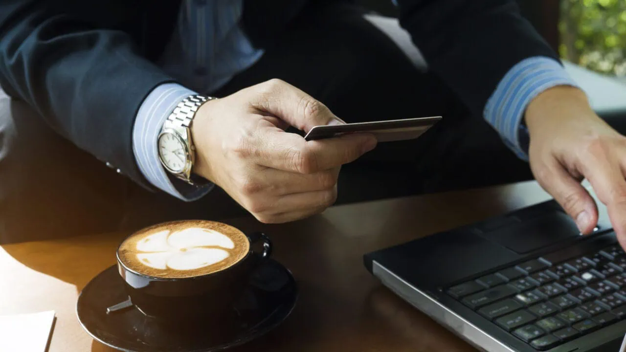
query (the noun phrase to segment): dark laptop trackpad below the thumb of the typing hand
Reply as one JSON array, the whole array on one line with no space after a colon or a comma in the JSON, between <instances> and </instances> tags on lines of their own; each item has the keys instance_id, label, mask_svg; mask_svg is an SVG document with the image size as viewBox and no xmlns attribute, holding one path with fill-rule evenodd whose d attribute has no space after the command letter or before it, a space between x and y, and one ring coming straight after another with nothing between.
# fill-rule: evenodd
<instances>
[{"instance_id":1,"label":"dark laptop trackpad below the thumb of the typing hand","mask_svg":"<svg viewBox=\"0 0 626 352\"><path fill-rule=\"evenodd\" d=\"M497 229L488 231L483 229L479 236L497 242L511 251L525 254L577 237L579 234L572 218L557 210L532 219L506 217Z\"/></svg>"}]
</instances>

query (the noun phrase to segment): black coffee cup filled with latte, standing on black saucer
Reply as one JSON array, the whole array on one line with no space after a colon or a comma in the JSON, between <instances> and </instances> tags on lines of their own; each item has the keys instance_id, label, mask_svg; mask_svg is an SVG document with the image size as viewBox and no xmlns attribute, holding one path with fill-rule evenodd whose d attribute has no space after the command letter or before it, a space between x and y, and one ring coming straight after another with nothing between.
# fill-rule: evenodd
<instances>
[{"instance_id":1,"label":"black coffee cup filled with latte, standing on black saucer","mask_svg":"<svg viewBox=\"0 0 626 352\"><path fill-rule=\"evenodd\" d=\"M262 242L260 253L252 245ZM272 253L260 232L182 220L135 232L118 247L120 276L133 306L168 322L220 321L232 311L252 271Z\"/></svg>"}]
</instances>

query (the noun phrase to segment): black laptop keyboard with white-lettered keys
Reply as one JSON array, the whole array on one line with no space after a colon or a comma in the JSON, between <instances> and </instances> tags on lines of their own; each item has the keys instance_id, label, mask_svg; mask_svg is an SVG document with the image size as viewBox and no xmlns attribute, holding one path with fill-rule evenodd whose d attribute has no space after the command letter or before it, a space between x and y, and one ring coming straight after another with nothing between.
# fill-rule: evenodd
<instances>
[{"instance_id":1,"label":"black laptop keyboard with white-lettered keys","mask_svg":"<svg viewBox=\"0 0 626 352\"><path fill-rule=\"evenodd\" d=\"M626 253L614 245L562 262L543 256L447 292L545 351L626 319Z\"/></svg>"}]
</instances>

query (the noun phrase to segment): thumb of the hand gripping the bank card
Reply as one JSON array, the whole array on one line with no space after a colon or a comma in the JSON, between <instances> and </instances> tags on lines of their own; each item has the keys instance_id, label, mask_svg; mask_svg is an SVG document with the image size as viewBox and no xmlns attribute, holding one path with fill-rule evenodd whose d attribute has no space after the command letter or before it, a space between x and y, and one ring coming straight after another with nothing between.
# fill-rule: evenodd
<instances>
[{"instance_id":1,"label":"thumb of the hand gripping the bank card","mask_svg":"<svg viewBox=\"0 0 626 352\"><path fill-rule=\"evenodd\" d=\"M326 105L284 81L269 80L250 89L252 108L270 113L304 132L315 126L345 123Z\"/></svg>"}]
</instances>

